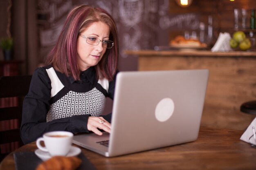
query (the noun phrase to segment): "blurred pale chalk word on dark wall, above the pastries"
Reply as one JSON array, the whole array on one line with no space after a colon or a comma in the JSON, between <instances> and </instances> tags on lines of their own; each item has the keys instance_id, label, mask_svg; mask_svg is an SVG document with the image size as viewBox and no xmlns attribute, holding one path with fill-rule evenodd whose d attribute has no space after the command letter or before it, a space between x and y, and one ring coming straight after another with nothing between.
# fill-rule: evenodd
<instances>
[{"instance_id":1,"label":"blurred pale chalk word on dark wall, above the pastries","mask_svg":"<svg viewBox=\"0 0 256 170\"><path fill-rule=\"evenodd\" d=\"M165 15L159 20L161 29L198 29L199 17L195 13Z\"/></svg>"}]
</instances>

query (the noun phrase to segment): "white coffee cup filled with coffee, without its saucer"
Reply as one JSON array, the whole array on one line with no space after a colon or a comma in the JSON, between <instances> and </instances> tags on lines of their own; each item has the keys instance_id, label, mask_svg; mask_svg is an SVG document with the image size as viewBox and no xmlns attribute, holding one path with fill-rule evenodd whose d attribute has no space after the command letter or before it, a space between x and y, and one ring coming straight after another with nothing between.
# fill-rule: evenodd
<instances>
[{"instance_id":1,"label":"white coffee cup filled with coffee, without its saucer","mask_svg":"<svg viewBox=\"0 0 256 170\"><path fill-rule=\"evenodd\" d=\"M66 131L47 132L36 140L36 146L52 156L66 156L72 146L73 136L73 133ZM44 141L45 147L41 146L41 141Z\"/></svg>"}]
</instances>

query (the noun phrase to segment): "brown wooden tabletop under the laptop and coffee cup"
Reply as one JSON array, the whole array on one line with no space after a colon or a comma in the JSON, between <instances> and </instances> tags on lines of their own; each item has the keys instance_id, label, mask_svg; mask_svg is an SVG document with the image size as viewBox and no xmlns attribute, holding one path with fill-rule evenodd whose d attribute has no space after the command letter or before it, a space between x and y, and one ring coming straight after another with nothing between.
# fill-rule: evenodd
<instances>
[{"instance_id":1,"label":"brown wooden tabletop under the laptop and coffee cup","mask_svg":"<svg viewBox=\"0 0 256 170\"><path fill-rule=\"evenodd\" d=\"M194 142L106 158L82 149L98 170L256 170L256 148L241 141L242 130L201 127ZM15 152L36 149L35 142ZM0 170L14 170L13 153Z\"/></svg>"}]
</instances>

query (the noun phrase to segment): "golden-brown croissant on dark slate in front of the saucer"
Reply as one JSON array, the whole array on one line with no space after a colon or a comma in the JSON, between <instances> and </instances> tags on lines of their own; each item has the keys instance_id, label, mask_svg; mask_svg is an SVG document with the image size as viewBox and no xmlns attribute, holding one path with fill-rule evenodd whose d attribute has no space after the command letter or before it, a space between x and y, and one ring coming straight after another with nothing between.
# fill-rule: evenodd
<instances>
[{"instance_id":1,"label":"golden-brown croissant on dark slate in front of the saucer","mask_svg":"<svg viewBox=\"0 0 256 170\"><path fill-rule=\"evenodd\" d=\"M55 156L40 163L36 170L75 170L81 162L78 157Z\"/></svg>"}]
</instances>

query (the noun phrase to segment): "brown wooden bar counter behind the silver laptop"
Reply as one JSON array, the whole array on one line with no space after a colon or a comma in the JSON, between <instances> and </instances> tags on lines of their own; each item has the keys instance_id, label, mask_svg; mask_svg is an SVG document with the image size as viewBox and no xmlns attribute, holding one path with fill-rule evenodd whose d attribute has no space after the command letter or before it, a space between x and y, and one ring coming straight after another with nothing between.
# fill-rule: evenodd
<instances>
[{"instance_id":1,"label":"brown wooden bar counter behind the silver laptop","mask_svg":"<svg viewBox=\"0 0 256 170\"><path fill-rule=\"evenodd\" d=\"M126 51L138 55L138 70L209 69L201 126L244 130L255 115L240 105L256 100L256 52Z\"/></svg>"}]
</instances>

